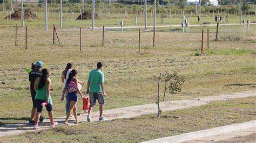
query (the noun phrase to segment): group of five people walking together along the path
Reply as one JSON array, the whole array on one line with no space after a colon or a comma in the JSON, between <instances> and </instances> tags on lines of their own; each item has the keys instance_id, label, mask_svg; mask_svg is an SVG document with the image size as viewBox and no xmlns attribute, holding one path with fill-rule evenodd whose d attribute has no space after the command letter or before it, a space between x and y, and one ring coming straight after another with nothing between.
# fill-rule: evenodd
<instances>
[{"instance_id":1,"label":"group of five people walking together along the path","mask_svg":"<svg viewBox=\"0 0 256 143\"><path fill-rule=\"evenodd\" d=\"M43 62L37 61L36 64L31 64L31 71L29 73L30 81L30 92L32 97L33 108L31 110L31 118L29 124L34 124L34 129L39 129L38 123L42 123L45 117L42 116L43 106L45 105L48 111L48 116L51 121L51 127L58 125L53 118L52 112L52 98L51 92L51 80L49 78L48 69L42 69ZM91 111L94 105L96 105L96 100L99 103L99 121L105 121L106 118L103 117L103 105L105 103L105 90L104 90L104 73L102 72L104 65L102 62L97 63L97 69L91 70L88 80L86 94L90 96L90 108L88 111L87 121L91 122ZM73 63L68 63L66 68L62 71L62 82L63 91L61 101L66 98L66 119L65 125L69 125L68 120L70 117L75 117L75 124L81 123L77 118L77 106L78 94L81 98L84 98L82 94L81 87L84 82L79 81L77 78L78 71L73 69ZM72 116L73 112L73 116Z\"/></svg>"}]
</instances>

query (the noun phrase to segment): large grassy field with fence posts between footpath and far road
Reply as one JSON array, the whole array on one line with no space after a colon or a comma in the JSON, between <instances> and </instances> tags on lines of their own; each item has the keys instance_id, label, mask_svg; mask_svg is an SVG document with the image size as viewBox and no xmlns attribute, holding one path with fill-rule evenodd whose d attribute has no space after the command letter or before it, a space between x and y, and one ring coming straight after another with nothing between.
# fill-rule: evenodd
<instances>
[{"instance_id":1,"label":"large grassy field with fence posts between footpath and far road","mask_svg":"<svg viewBox=\"0 0 256 143\"><path fill-rule=\"evenodd\" d=\"M60 74L67 62L75 64L82 81L86 81L98 61L105 63L103 71L109 95L105 109L156 102L157 78L165 70L176 70L186 80L183 90L167 95L166 101L255 89L256 25L251 25L250 31L241 30L239 26L220 26L218 41L214 40L215 26L208 27L210 49L205 49L203 54L200 54L200 32L203 28L206 31L207 26L191 27L192 33L188 34L172 27L157 28L155 47L152 46L153 32L142 31L142 53L138 54L138 30L106 31L104 47L102 31L84 30L83 52L79 52L79 29L68 28L75 22L66 22L64 25L69 26L57 27L60 45L52 45L52 31L44 31L42 20L25 22L31 25L25 50L25 30L20 27L18 46L14 46L14 25L19 21L0 20L1 124L19 123L30 117L32 104L25 68L37 60L42 60L43 67L50 70L55 116L65 115L65 103L60 102ZM82 90L85 92L85 85ZM79 110L81 104L79 101Z\"/></svg>"}]
</instances>

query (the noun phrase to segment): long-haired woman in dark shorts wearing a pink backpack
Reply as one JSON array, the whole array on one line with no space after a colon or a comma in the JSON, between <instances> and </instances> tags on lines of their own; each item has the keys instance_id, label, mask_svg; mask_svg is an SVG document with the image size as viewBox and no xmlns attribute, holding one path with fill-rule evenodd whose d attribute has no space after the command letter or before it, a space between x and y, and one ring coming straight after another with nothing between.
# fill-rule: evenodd
<instances>
[{"instance_id":1,"label":"long-haired woman in dark shorts wearing a pink backpack","mask_svg":"<svg viewBox=\"0 0 256 143\"><path fill-rule=\"evenodd\" d=\"M73 70L71 70L71 72L69 74L68 80L66 80L66 85L65 85L65 88L63 89L63 92L62 92L62 99L61 100L63 101L65 91L68 90L68 98L69 98L69 102L70 102L70 108L69 108L68 114L66 115L65 125L69 125L68 119L71 115L72 110L73 110L73 115L75 116L75 119L76 119L75 124L81 123L77 119L76 103L78 101L78 93L81 95L82 99L84 98L84 96L83 96L82 92L80 91L80 89L78 88L78 82L79 82L79 80L77 79L77 70L73 69Z\"/></svg>"}]
</instances>

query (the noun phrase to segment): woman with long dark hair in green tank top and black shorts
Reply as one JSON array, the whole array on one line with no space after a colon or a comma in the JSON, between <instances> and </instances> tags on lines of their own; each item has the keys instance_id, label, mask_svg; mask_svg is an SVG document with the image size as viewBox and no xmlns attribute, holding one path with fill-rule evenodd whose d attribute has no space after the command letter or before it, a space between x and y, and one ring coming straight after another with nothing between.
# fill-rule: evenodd
<instances>
[{"instance_id":1,"label":"woman with long dark hair in green tank top and black shorts","mask_svg":"<svg viewBox=\"0 0 256 143\"><path fill-rule=\"evenodd\" d=\"M50 95L51 80L49 78L49 71L47 69L42 69L42 76L36 78L34 89L36 91L35 102L37 109L34 129L39 129L38 121L43 111L43 105L45 105L46 110L48 111L51 127L57 126L58 122L55 122L53 118L52 99Z\"/></svg>"}]
</instances>

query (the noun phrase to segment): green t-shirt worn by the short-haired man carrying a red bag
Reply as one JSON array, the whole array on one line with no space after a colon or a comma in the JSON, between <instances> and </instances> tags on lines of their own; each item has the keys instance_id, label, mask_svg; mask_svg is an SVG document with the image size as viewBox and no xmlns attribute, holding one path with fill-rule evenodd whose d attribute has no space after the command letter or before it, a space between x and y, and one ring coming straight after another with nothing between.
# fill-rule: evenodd
<instances>
[{"instance_id":1,"label":"green t-shirt worn by the short-haired man carrying a red bag","mask_svg":"<svg viewBox=\"0 0 256 143\"><path fill-rule=\"evenodd\" d=\"M98 69L91 70L88 81L90 82L90 92L102 92L100 83L104 82L104 74Z\"/></svg>"}]
</instances>

